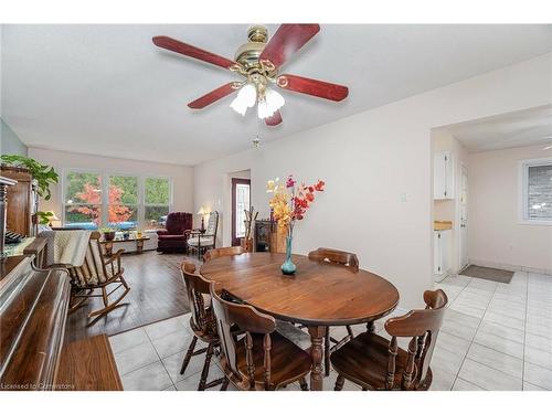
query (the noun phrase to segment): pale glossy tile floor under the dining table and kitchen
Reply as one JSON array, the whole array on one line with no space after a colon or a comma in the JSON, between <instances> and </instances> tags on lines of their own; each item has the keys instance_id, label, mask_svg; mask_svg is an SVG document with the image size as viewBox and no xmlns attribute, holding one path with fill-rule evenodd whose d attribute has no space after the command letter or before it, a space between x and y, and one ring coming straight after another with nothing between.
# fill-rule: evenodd
<instances>
[{"instance_id":1,"label":"pale glossy tile floor under the dining table and kitchen","mask_svg":"<svg viewBox=\"0 0 552 414\"><path fill-rule=\"evenodd\" d=\"M552 390L552 276L518 272L508 285L449 276L435 286L447 293L449 306L432 360L432 390ZM306 333L285 328L301 348L310 344ZM332 328L332 336L340 331ZM383 320L376 331L386 335ZM179 374L191 339L189 315L110 337L124 389L197 390L203 355ZM221 376L213 358L208 381ZM325 378L325 390L333 389L336 376ZM346 382L343 390L360 389Z\"/></svg>"}]
</instances>

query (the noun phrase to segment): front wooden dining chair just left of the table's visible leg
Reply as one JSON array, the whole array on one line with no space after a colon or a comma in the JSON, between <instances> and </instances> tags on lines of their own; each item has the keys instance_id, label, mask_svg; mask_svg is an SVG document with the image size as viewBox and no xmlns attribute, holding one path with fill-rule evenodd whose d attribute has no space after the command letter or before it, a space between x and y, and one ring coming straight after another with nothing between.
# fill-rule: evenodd
<instances>
[{"instance_id":1,"label":"front wooden dining chair just left of the table's visible leg","mask_svg":"<svg viewBox=\"0 0 552 414\"><path fill-rule=\"evenodd\" d=\"M221 364L226 375L221 390L229 383L243 391L277 390L298 381L308 389L310 354L280 336L272 316L261 314L250 305L224 300L211 283L211 297L221 343ZM233 333L240 327L242 336Z\"/></svg>"}]
</instances>

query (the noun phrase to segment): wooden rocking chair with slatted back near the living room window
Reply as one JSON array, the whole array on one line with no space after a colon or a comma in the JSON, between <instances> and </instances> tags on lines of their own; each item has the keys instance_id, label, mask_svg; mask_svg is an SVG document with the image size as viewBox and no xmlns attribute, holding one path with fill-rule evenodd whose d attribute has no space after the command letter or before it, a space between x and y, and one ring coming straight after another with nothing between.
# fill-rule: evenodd
<instances>
[{"instance_id":1,"label":"wooden rocking chair with slatted back near the living room window","mask_svg":"<svg viewBox=\"0 0 552 414\"><path fill-rule=\"evenodd\" d=\"M100 297L104 301L104 307L102 309L93 310L88 314L88 318L94 319L87 323L87 327L96 323L99 318L115 308L128 305L120 304L120 301L130 290L127 282L123 277L125 269L120 265L120 255L125 250L120 248L109 257L106 257L104 256L99 243L100 237L102 235L99 232L92 232L83 265L81 267L67 268L72 282L72 304L70 305L70 312L82 307L89 298ZM108 290L109 285L114 285L115 288ZM117 299L109 302L109 297L119 287L123 287L125 291L123 291ZM100 293L95 293L98 289Z\"/></svg>"}]
</instances>

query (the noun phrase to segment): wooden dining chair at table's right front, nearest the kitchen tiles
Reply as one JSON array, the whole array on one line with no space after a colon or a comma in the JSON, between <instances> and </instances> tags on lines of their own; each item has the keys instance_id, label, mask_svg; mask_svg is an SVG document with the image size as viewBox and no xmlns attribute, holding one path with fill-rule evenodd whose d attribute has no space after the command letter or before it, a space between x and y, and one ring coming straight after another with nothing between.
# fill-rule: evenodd
<instances>
[{"instance_id":1,"label":"wooden dining chair at table's right front, nearest the kitchen tiles","mask_svg":"<svg viewBox=\"0 0 552 414\"><path fill-rule=\"evenodd\" d=\"M428 390L433 380L429 362L448 298L440 289L426 290L424 301L425 309L388 319L391 340L368 331L335 351L335 390L340 391L346 379L362 390ZM397 347L397 338L412 338L407 351Z\"/></svg>"}]
</instances>

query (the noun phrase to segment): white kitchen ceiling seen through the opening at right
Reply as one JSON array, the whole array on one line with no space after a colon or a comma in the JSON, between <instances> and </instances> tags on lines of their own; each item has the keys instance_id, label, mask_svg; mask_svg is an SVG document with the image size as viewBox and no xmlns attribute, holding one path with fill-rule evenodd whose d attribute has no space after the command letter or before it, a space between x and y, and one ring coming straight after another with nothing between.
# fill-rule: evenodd
<instances>
[{"instance_id":1,"label":"white kitchen ceiling seen through the opening at right","mask_svg":"<svg viewBox=\"0 0 552 414\"><path fill-rule=\"evenodd\" d=\"M552 105L446 127L469 152L552 146Z\"/></svg>"}]
</instances>

